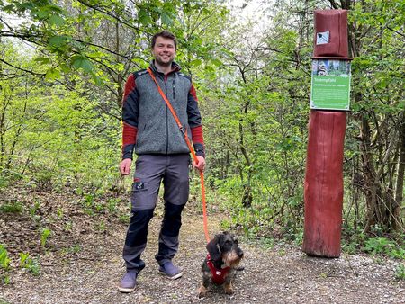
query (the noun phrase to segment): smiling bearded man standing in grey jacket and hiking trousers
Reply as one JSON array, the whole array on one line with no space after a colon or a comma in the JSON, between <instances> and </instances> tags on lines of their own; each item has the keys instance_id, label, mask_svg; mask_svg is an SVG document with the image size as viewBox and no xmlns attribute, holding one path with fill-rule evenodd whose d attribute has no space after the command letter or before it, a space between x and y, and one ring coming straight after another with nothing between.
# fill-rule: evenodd
<instances>
[{"instance_id":1,"label":"smiling bearded man standing in grey jacket and hiking trousers","mask_svg":"<svg viewBox=\"0 0 405 304\"><path fill-rule=\"evenodd\" d=\"M184 131L193 139L198 160L197 163L193 161L193 166L203 170L205 160L201 115L190 77L180 73L180 67L174 62L176 48L175 35L169 31L157 32L152 38L154 60L149 68L175 109ZM140 255L147 244L148 223L153 217L162 181L165 215L155 257L159 272L167 278L177 279L183 275L172 259L179 244L181 213L188 200L190 150L184 134L159 94L157 84L148 70L131 74L125 84L121 174L130 174L134 150L138 158L132 185L132 214L123 248L127 273L119 286L121 292L134 291L137 276L145 267Z\"/></svg>"}]
</instances>

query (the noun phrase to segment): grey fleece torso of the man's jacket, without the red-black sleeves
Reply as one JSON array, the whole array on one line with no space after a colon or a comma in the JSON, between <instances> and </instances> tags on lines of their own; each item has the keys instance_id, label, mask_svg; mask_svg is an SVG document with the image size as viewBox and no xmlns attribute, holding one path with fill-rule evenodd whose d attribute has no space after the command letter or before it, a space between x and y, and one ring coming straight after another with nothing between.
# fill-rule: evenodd
<instances>
[{"instance_id":1,"label":"grey fleece torso of the man's jacket, without the red-black sleeves","mask_svg":"<svg viewBox=\"0 0 405 304\"><path fill-rule=\"evenodd\" d=\"M191 139L188 125L187 101L192 82L179 72L165 76L154 72L157 83L172 104L184 130ZM157 90L157 85L148 74L140 71L135 74L135 84L139 94L138 135L135 153L141 154L178 154L190 153L172 113Z\"/></svg>"}]
</instances>

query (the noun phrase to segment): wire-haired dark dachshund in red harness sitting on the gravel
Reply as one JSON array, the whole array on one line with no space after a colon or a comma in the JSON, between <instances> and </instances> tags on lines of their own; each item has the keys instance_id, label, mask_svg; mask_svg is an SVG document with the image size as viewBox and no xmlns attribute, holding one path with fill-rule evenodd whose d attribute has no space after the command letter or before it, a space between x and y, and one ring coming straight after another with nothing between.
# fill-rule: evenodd
<instances>
[{"instance_id":1,"label":"wire-haired dark dachshund in red harness sitting on the gravel","mask_svg":"<svg viewBox=\"0 0 405 304\"><path fill-rule=\"evenodd\" d=\"M202 263L202 284L198 289L199 298L204 297L212 283L222 285L225 293L232 294L232 282L237 266L243 257L238 239L229 232L216 235L207 244L208 255Z\"/></svg>"}]
</instances>

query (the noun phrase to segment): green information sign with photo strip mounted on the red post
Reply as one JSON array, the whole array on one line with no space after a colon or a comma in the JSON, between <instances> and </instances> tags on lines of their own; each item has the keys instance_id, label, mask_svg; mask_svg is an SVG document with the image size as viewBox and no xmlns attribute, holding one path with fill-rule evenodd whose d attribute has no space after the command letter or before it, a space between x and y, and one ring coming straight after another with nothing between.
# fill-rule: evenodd
<instances>
[{"instance_id":1,"label":"green information sign with photo strip mounted on the red post","mask_svg":"<svg viewBox=\"0 0 405 304\"><path fill-rule=\"evenodd\" d=\"M311 109L350 109L350 61L312 60Z\"/></svg>"}]
</instances>

